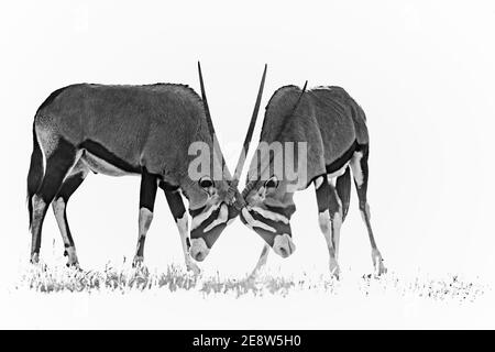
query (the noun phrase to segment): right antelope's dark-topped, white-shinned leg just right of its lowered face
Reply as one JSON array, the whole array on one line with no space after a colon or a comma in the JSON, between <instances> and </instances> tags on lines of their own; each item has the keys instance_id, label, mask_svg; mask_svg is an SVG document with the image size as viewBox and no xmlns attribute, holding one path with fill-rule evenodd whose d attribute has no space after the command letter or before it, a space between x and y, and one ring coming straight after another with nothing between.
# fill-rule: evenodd
<instances>
[{"instance_id":1,"label":"right antelope's dark-topped, white-shinned leg just right of its lowered face","mask_svg":"<svg viewBox=\"0 0 495 352\"><path fill-rule=\"evenodd\" d=\"M330 255L330 274L339 278L340 268L337 261L337 243L340 238L340 227L342 217L339 212L339 200L337 193L329 185L327 175L315 180L315 188L318 201L318 221L321 232L327 241L328 253Z\"/></svg>"}]
</instances>

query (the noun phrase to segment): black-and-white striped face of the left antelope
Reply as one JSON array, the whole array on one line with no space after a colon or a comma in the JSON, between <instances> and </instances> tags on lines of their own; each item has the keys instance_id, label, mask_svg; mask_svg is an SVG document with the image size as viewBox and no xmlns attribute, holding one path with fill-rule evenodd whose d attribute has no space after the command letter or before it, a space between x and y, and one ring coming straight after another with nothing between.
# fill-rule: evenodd
<instances>
[{"instance_id":1,"label":"black-and-white striped face of the left antelope","mask_svg":"<svg viewBox=\"0 0 495 352\"><path fill-rule=\"evenodd\" d=\"M208 256L222 231L239 215L239 211L227 200L229 183L219 183L220 185L216 186L211 178L202 177L199 186L206 194L207 200L202 207L189 209L193 218L189 253L197 262Z\"/></svg>"}]
</instances>

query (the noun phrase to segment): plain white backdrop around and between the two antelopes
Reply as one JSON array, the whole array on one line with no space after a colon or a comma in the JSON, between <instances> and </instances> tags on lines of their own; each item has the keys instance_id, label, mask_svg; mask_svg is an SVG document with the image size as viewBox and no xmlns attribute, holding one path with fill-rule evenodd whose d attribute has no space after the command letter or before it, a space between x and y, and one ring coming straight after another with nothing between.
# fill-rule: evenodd
<instances>
[{"instance_id":1,"label":"plain white backdrop around and between the two antelopes","mask_svg":"<svg viewBox=\"0 0 495 352\"><path fill-rule=\"evenodd\" d=\"M41 102L53 90L82 81L183 82L199 91L198 59L231 170L265 63L268 74L262 107L283 85L301 86L308 79L310 87L342 86L367 114L369 200L376 241L389 270L492 280L493 1L15 1L0 7L0 271L6 287L29 260L25 178L32 121ZM263 113L261 109L255 141ZM353 190L341 238L340 264L351 270L349 275L372 271L356 198ZM297 194L295 200L298 210L292 223L297 251L285 261L272 255L268 266L327 274L328 254L314 189ZM82 266L97 268L109 261L120 263L124 256L132 258L138 205L139 177L88 176L68 207ZM261 248L261 239L237 221L201 266L242 276L253 267ZM42 257L62 265L62 252L50 211ZM183 265L178 232L162 194L145 258L162 270L172 263ZM10 294L7 299L22 306L21 296ZM30 295L29 299L48 298ZM179 298L166 299L169 304ZM293 304L304 301L293 299ZM127 305L134 309L132 302ZM233 304L216 305L227 309ZM202 316L209 314L198 309ZM124 317L123 310L114 310ZM157 327L194 327L193 322L174 326L174 319L190 318L180 310L166 315L155 319ZM404 322L399 316L397 321ZM10 319L2 326L9 326ZM279 323L273 321L271 327ZM311 327L328 327L326 317L312 319ZM494 327L490 316L479 319ZM252 323L258 317L253 312L232 321L243 327L242 321ZM345 321L343 326L359 326ZM340 327L336 319L332 323ZM394 320L388 324L395 327Z\"/></svg>"}]
</instances>

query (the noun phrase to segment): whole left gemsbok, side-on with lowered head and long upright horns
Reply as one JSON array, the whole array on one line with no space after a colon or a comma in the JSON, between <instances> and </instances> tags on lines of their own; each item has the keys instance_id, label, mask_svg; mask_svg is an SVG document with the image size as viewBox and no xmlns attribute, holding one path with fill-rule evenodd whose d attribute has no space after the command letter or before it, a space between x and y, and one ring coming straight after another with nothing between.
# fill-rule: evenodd
<instances>
[{"instance_id":1,"label":"whole left gemsbok, side-on with lowered head and long upright horns","mask_svg":"<svg viewBox=\"0 0 495 352\"><path fill-rule=\"evenodd\" d=\"M110 176L141 175L134 265L143 261L160 187L176 221L186 266L199 272L191 258L199 262L208 255L227 224L239 215L243 199L237 188L239 180L229 174L218 146L199 63L198 73L202 99L185 85L79 84L54 91L41 105L33 123L28 175L31 262L38 262L43 220L52 204L67 265L78 264L66 207L91 170ZM265 75L266 66L251 125L256 120ZM188 173L196 157L189 152L195 142L212 151L208 154L210 168L201 168L198 178ZM189 204L190 234L183 196Z\"/></svg>"}]
</instances>

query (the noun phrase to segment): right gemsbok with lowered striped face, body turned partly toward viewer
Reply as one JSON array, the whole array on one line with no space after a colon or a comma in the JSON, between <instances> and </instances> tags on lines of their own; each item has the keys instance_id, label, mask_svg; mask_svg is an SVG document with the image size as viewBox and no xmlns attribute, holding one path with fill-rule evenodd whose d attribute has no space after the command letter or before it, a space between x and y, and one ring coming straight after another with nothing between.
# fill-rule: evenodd
<instances>
[{"instance_id":1,"label":"right gemsbok with lowered striped face, body turned partly toward viewer","mask_svg":"<svg viewBox=\"0 0 495 352\"><path fill-rule=\"evenodd\" d=\"M289 147L284 148L283 144ZM262 145L265 153L261 153ZM344 89L306 90L305 85L304 89L285 86L274 92L266 106L257 154L242 191L246 207L242 209L241 220L265 241L254 273L266 263L270 248L283 257L295 251L289 222L296 210L293 196L312 183L319 226L330 254L330 273L339 276L340 228L349 210L350 169L370 237L375 273L386 272L373 235L366 199L369 145L364 111ZM287 165L280 172L277 162L282 165L290 157L296 158L299 170L288 179Z\"/></svg>"}]
</instances>

